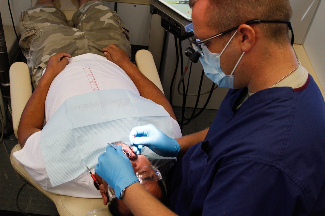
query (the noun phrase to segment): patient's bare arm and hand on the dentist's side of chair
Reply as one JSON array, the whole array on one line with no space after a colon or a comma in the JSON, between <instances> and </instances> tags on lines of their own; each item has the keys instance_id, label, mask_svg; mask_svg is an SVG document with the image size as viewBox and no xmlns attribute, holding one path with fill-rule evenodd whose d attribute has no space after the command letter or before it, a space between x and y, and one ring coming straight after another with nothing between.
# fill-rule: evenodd
<instances>
[{"instance_id":1,"label":"patient's bare arm and hand on the dentist's side of chair","mask_svg":"<svg viewBox=\"0 0 325 216\"><path fill-rule=\"evenodd\" d=\"M132 79L142 97L162 105L168 114L176 120L173 108L165 95L153 82L139 71L136 65L130 61L124 50L115 44L110 44L103 49L103 52L108 60L120 66Z\"/></svg>"}]
</instances>

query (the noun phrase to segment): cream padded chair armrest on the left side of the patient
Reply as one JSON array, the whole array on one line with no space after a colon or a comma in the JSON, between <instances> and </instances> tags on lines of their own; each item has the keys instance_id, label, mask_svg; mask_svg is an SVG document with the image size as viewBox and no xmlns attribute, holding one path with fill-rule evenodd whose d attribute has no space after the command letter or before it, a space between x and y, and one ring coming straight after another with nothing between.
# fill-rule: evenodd
<instances>
[{"instance_id":1,"label":"cream padded chair armrest on the left side of the patient","mask_svg":"<svg viewBox=\"0 0 325 216\"><path fill-rule=\"evenodd\" d=\"M10 100L12 110L12 126L15 136L21 113L32 95L32 83L29 68L26 63L15 62L9 69Z\"/></svg>"}]
</instances>

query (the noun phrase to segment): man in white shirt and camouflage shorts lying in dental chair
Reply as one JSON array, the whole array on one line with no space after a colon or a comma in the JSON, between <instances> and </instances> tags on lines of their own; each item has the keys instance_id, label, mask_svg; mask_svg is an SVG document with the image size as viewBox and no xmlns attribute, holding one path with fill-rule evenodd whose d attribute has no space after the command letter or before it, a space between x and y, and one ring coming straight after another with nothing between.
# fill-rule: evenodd
<instances>
[{"instance_id":1,"label":"man in white shirt and camouflage shorts lying in dental chair","mask_svg":"<svg viewBox=\"0 0 325 216\"><path fill-rule=\"evenodd\" d=\"M155 103L156 106L162 106L164 111L168 113L167 118L170 125L168 127L175 138L182 136L179 125L176 121L173 109L163 93L130 61L129 56L131 56L131 46L128 42L128 31L124 28L125 25L123 22L119 21L119 18L114 12L111 12L110 9L104 6L100 1L80 1L81 7L74 14L73 21L75 21L75 23L72 28L71 26L68 27L68 25L66 25L67 23L64 19L64 15L62 15L61 11L56 7L53 7L51 1L44 0L38 1L38 3L42 4L37 4L28 11L23 11L20 19L22 21L21 26L24 27L20 29L21 34L23 35L20 45L32 71L32 81L35 90L27 102L19 122L17 133L21 150L15 152L13 156L25 167L33 180L47 191L82 198L101 198L105 195L103 196L104 203L107 203L109 201L106 197L106 192L108 193L107 184L101 182L103 183L101 184L100 190L100 192L102 192L101 196L94 186L91 176L86 172L85 162L83 164L80 163L82 165L79 164L78 166L80 169L83 169L80 171L81 173L78 173L76 177L73 176L70 181L62 184L61 182L51 184L49 177L50 172L49 169L47 169L49 167L45 166L45 161L50 160L50 162L52 162L50 165L53 165L54 167L57 166L57 162L61 161L59 161L60 158L55 158L51 161L51 158L48 159L44 154L45 151L41 145L42 140L49 135L48 132L57 133L60 131L59 136L55 138L53 137L53 145L49 145L49 147L51 150L53 149L53 151L59 149L59 147L62 148L62 151L59 151L59 153L61 153L59 156L61 157L64 154L66 156L65 160L68 161L68 168L71 166L71 172L61 170L61 173L69 175L76 170L74 169L76 163L71 161L72 159L77 158L74 157L74 153L78 152L78 150L69 151L73 153L70 154L67 150L69 150L72 145L70 145L71 143L67 143L67 139L64 139L64 136L62 136L62 133L67 131L70 132L71 128L64 130L62 128L66 126L65 123L71 123L73 119L64 119L62 118L62 115L60 116L61 118L58 117L57 111L61 108L61 105L65 105L64 103L71 98L78 96L82 98L85 95L98 94L104 96L102 97L104 98L104 101L99 101L101 105L107 105L109 108L112 106L112 103L109 103L111 101L116 103L124 102L121 103L123 105L122 108L119 107L119 109L114 109L123 113L122 111L124 111L125 108L127 108L127 105L130 105L131 103L125 103L125 100L123 100L124 98L119 98L117 95L110 94L113 91L123 91L128 92L127 94L130 95L131 98L133 97L132 95L136 95L136 97L133 98L138 99L139 97L142 97L142 99L140 99L142 101L144 101L143 99L149 99L151 102ZM53 21L49 17L55 17L56 19ZM59 23L62 23L62 25L57 24L57 19L60 20ZM88 25L88 23L90 24ZM40 30L42 33L30 34L30 32L34 32L34 30L29 29L26 26L36 29L37 32ZM97 31L98 29L100 29L100 32ZM63 33L63 31L65 33ZM42 35L42 37L34 37L35 35ZM84 37L81 37L80 35L83 35ZM76 46L76 41L78 41L78 46ZM113 43L118 44L118 46ZM81 44L87 44L87 47L79 46ZM44 67L46 67L45 71L43 71ZM88 99L90 99L90 101L79 99L78 102L81 102L81 104L78 108L80 108L80 110L83 108L89 108L88 104L92 104L91 102L93 102L93 98L88 97ZM90 113L96 113L97 111L98 110L90 110ZM148 113L141 109L140 111L142 112L137 113L139 114L138 117L142 117ZM117 114L111 112L111 110L105 114L105 117L110 119L111 117L114 117L115 123L119 121L119 119L115 119ZM66 116L63 115L63 117ZM68 117L70 117L70 115L68 115ZM46 123L45 126L44 118ZM92 120L95 118L93 118L92 115L84 115L83 118L79 119L74 118L74 120L78 120L81 124L85 124L87 121L89 122L89 119ZM54 124L52 124L53 121ZM123 119L121 121L123 122ZM156 124L162 124L158 120L154 119L154 121L156 121L156 123L148 121L143 121L142 123L154 124L155 126ZM62 124L62 122L64 122L64 124ZM102 123L103 126L108 127L110 130L99 127L97 127L97 129L91 128L89 131L92 131L93 133L85 136L84 134L81 134L81 138L75 136L74 142L80 144L81 141L84 141L86 138L98 140L99 131L105 131L108 133L108 136L101 134L100 138L103 139L101 139L100 142L97 142L101 145L99 146L99 149L105 146L107 142L115 140L122 140L123 142L128 143L127 135L133 128L132 124L124 123L123 128L121 126L123 129L122 132L122 130L120 130L121 128L117 128L115 124L109 125L107 122L99 123ZM139 123L135 122L134 124ZM89 128L92 125L93 124L82 125L82 127ZM162 125L165 126L166 124ZM51 126L55 129L52 129ZM79 128L76 130L79 130ZM73 134L75 134L75 131ZM65 133L65 135L67 135L67 133ZM90 143L91 147L94 146L94 142L95 141ZM65 147L67 150L64 149ZM79 146L77 147L79 148ZM90 152L92 155L88 158L95 158L97 160L101 153L100 150L95 153ZM130 151L129 149L126 149L126 146L125 150ZM52 157L51 153L52 152L50 152L49 156ZM88 152L84 151L84 153L87 154ZM142 153L146 155L144 152ZM155 162L157 161L158 164L163 162L164 165L158 168L161 173L166 173L165 171L169 170L171 162L173 161L173 159L165 160L164 158L156 160L156 157L150 159L149 156L147 159L144 155L139 155L137 159L134 159L135 161L132 161L135 172L137 171L136 169L138 169L138 166L140 166L138 164L149 165L150 162L148 159L150 161L152 159L151 163L153 165L156 165ZM132 154L130 158L133 157L135 157L134 154ZM84 159L82 158L81 161L83 160ZM86 162L86 164L88 167L91 167L94 166L96 162L98 162L98 160L89 163ZM91 171L94 173L93 168L91 168ZM162 174L162 176L164 176L164 174ZM98 176L98 179L101 178ZM156 181L145 185L145 187L149 192L152 191L153 194L157 195L157 197L163 198L162 192L155 189L159 188L159 185L161 186L161 182ZM112 202L115 202L114 200L115 199L112 199ZM116 200L116 203L117 202L118 201Z\"/></svg>"}]
</instances>

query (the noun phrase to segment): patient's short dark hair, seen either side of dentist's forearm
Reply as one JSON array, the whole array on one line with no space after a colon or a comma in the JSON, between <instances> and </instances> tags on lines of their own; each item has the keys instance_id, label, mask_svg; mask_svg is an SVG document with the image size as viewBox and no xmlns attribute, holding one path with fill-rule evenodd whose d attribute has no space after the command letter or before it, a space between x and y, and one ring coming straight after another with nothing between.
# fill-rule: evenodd
<instances>
[{"instance_id":1,"label":"patient's short dark hair, seen either side of dentist's forearm","mask_svg":"<svg viewBox=\"0 0 325 216\"><path fill-rule=\"evenodd\" d=\"M157 181L159 189L162 191L161 197L157 197L159 201L161 201L164 205L167 204L167 195L165 186L162 184L162 180ZM113 216L133 216L132 212L129 209L120 209L118 202L118 198L114 198L110 204L108 205L108 209Z\"/></svg>"}]
</instances>

